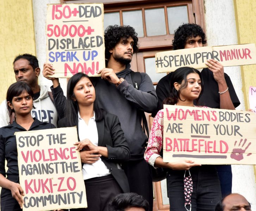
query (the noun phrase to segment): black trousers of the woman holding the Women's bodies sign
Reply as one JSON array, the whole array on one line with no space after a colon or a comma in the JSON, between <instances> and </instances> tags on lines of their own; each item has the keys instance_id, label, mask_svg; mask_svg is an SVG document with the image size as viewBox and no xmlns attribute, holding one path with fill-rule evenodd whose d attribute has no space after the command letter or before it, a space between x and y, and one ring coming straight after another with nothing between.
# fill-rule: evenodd
<instances>
[{"instance_id":1,"label":"black trousers of the woman holding the Women's bodies sign","mask_svg":"<svg viewBox=\"0 0 256 211\"><path fill-rule=\"evenodd\" d=\"M187 211L184 197L185 171L170 170L167 174L167 189L170 211ZM190 169L193 192L191 211L214 211L221 200L220 182L214 165L202 165ZM186 206L189 210L190 205Z\"/></svg>"}]
</instances>

